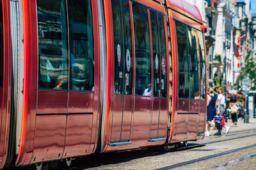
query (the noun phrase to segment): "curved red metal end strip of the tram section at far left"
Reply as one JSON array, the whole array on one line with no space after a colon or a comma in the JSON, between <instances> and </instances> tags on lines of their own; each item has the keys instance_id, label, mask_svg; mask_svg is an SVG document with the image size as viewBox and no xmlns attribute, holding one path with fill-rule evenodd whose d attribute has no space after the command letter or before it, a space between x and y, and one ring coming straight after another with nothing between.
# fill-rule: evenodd
<instances>
[{"instance_id":1,"label":"curved red metal end strip of the tram section at far left","mask_svg":"<svg viewBox=\"0 0 256 170\"><path fill-rule=\"evenodd\" d=\"M10 131L10 97L11 97L11 36L10 36L10 2L2 1L3 4L3 89L1 89L1 134L0 134L0 155L3 168L8 154L9 131Z\"/></svg>"}]
</instances>

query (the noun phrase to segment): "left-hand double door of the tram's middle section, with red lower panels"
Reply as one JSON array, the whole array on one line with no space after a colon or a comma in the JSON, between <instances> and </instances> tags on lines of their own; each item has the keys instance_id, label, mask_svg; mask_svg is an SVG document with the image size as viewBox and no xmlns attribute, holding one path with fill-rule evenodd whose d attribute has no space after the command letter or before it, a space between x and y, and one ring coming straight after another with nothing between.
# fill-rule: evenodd
<instances>
[{"instance_id":1,"label":"left-hand double door of the tram's middle section, with red lower panels","mask_svg":"<svg viewBox=\"0 0 256 170\"><path fill-rule=\"evenodd\" d=\"M114 95L111 109L111 142L130 140L133 60L129 0L111 0L114 41Z\"/></svg>"}]
</instances>

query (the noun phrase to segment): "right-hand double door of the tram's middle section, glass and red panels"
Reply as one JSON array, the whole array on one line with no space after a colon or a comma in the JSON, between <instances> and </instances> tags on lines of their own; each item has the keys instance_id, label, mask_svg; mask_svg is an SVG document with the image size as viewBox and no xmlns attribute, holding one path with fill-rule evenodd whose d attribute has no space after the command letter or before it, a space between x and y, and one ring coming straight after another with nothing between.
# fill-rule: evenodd
<instances>
[{"instance_id":1,"label":"right-hand double door of the tram's middle section, glass and red panels","mask_svg":"<svg viewBox=\"0 0 256 170\"><path fill-rule=\"evenodd\" d=\"M150 139L163 138L166 120L166 39L164 34L164 17L156 11L150 10L152 32L152 115Z\"/></svg>"}]
</instances>

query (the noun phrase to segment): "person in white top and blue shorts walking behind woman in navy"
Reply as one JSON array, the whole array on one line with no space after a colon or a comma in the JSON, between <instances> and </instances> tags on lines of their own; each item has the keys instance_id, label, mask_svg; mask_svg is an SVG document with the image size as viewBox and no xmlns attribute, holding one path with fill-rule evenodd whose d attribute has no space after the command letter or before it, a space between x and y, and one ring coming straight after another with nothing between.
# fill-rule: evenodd
<instances>
[{"instance_id":1,"label":"person in white top and blue shorts walking behind woman in navy","mask_svg":"<svg viewBox=\"0 0 256 170\"><path fill-rule=\"evenodd\" d=\"M224 96L224 90L222 87L218 88L218 97L217 97L217 115L222 117L222 120L224 120L224 116L225 116L225 96ZM226 134L228 133L230 127L228 127L227 125L225 125L225 121L221 121L222 123L222 127L225 127L226 130ZM221 135L221 129L218 129L218 132L216 132L216 134L214 135Z\"/></svg>"}]
</instances>

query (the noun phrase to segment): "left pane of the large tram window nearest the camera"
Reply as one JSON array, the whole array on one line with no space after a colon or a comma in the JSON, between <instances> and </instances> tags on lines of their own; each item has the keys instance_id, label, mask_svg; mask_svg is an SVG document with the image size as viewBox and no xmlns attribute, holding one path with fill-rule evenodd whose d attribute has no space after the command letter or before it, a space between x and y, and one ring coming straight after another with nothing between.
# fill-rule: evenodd
<instances>
[{"instance_id":1,"label":"left pane of the large tram window nearest the camera","mask_svg":"<svg viewBox=\"0 0 256 170\"><path fill-rule=\"evenodd\" d=\"M40 89L68 89L68 39L65 1L37 0Z\"/></svg>"}]
</instances>

